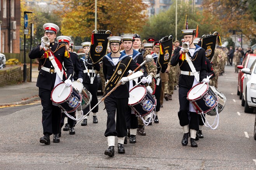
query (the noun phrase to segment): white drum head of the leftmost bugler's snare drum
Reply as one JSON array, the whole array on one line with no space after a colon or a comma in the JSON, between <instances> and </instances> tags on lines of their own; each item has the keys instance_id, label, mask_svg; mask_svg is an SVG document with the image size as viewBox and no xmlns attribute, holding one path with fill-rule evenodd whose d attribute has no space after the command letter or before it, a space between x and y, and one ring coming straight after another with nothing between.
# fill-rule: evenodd
<instances>
[{"instance_id":1,"label":"white drum head of the leftmost bugler's snare drum","mask_svg":"<svg viewBox=\"0 0 256 170\"><path fill-rule=\"evenodd\" d=\"M64 89L63 89L64 87ZM63 92L58 97L59 93L63 89ZM64 100L68 99L70 94L72 93L71 86L67 87L64 82L58 84L53 90L51 94L52 101L54 103L62 103Z\"/></svg>"}]
</instances>

